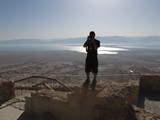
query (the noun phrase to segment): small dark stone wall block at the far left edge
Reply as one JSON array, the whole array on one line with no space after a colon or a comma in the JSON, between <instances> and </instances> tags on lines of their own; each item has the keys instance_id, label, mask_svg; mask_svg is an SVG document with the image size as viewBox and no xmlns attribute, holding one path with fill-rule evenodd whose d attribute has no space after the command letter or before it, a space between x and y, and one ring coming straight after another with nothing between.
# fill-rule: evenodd
<instances>
[{"instance_id":1,"label":"small dark stone wall block at the far left edge","mask_svg":"<svg viewBox=\"0 0 160 120\"><path fill-rule=\"evenodd\" d=\"M12 81L0 82L0 105L14 97L14 83Z\"/></svg>"}]
</instances>

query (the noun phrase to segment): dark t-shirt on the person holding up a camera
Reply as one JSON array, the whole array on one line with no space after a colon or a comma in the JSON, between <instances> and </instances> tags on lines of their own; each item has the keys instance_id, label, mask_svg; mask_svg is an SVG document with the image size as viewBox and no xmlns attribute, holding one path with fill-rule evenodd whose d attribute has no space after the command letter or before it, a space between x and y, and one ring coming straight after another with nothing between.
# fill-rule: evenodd
<instances>
[{"instance_id":1,"label":"dark t-shirt on the person holding up a camera","mask_svg":"<svg viewBox=\"0 0 160 120\"><path fill-rule=\"evenodd\" d=\"M100 41L95 39L95 44L97 47L100 47ZM87 55L96 55L97 56L97 50L94 49L94 44L92 40L87 40L85 42Z\"/></svg>"}]
</instances>

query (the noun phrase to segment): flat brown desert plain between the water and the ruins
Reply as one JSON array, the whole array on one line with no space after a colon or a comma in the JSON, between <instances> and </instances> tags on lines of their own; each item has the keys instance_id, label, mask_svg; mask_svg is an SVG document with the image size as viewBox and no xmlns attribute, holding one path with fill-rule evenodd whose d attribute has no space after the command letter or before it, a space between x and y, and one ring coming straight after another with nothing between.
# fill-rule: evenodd
<instances>
[{"instance_id":1,"label":"flat brown desert plain between the water and the ruins","mask_svg":"<svg viewBox=\"0 0 160 120\"><path fill-rule=\"evenodd\" d=\"M45 75L79 83L85 80L85 57L85 53L75 51L0 52L0 76L15 81L30 75ZM100 54L98 58L98 80L126 82L137 79L135 74L160 73L159 50L133 49L116 55Z\"/></svg>"}]
</instances>

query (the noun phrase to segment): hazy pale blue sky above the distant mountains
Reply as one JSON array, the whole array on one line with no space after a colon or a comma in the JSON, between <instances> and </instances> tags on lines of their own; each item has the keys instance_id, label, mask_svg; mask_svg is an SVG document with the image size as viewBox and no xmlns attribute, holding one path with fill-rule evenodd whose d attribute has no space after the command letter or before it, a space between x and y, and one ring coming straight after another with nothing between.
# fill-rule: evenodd
<instances>
[{"instance_id":1,"label":"hazy pale blue sky above the distant mountains","mask_svg":"<svg viewBox=\"0 0 160 120\"><path fill-rule=\"evenodd\" d=\"M0 40L160 36L160 0L0 0Z\"/></svg>"}]
</instances>

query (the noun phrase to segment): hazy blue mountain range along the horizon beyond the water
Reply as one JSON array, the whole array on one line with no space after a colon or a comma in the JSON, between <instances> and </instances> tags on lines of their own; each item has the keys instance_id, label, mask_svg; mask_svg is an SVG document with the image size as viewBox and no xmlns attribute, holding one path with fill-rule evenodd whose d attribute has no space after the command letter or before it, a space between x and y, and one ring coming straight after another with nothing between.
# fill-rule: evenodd
<instances>
[{"instance_id":1,"label":"hazy blue mountain range along the horizon beyond the water","mask_svg":"<svg viewBox=\"0 0 160 120\"><path fill-rule=\"evenodd\" d=\"M101 45L147 45L160 46L160 36L148 37L123 37L123 36L107 36L96 37L101 41ZM86 41L85 37L68 38L68 39L16 39L3 40L0 44L83 44Z\"/></svg>"}]
</instances>

